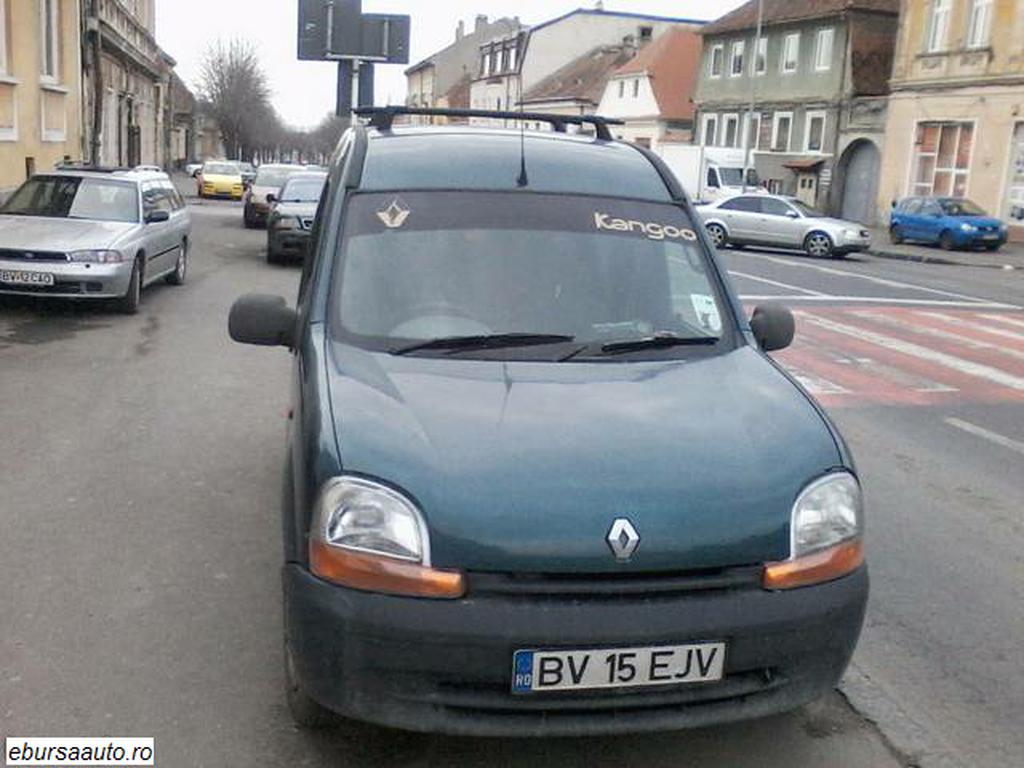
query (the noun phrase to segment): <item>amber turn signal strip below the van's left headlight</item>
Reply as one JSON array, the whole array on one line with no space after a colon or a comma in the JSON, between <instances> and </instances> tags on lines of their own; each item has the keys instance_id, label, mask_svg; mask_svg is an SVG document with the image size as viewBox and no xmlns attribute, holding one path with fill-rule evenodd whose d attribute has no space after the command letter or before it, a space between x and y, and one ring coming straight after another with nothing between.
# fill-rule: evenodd
<instances>
[{"instance_id":1,"label":"amber turn signal strip below the van's left headlight","mask_svg":"<svg viewBox=\"0 0 1024 768\"><path fill-rule=\"evenodd\" d=\"M438 570L317 541L309 545L309 568L328 582L366 592L449 600L466 594L465 580L457 570Z\"/></svg>"}]
</instances>

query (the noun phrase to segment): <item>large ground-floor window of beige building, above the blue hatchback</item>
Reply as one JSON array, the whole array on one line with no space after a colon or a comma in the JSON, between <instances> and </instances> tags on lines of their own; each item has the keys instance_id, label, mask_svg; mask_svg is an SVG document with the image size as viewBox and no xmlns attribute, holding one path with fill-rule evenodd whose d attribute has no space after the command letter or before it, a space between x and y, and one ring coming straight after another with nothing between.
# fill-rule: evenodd
<instances>
[{"instance_id":1,"label":"large ground-floor window of beige building, above the blue hatchback","mask_svg":"<svg viewBox=\"0 0 1024 768\"><path fill-rule=\"evenodd\" d=\"M967 197L973 123L919 123L913 143L913 195Z\"/></svg>"}]
</instances>

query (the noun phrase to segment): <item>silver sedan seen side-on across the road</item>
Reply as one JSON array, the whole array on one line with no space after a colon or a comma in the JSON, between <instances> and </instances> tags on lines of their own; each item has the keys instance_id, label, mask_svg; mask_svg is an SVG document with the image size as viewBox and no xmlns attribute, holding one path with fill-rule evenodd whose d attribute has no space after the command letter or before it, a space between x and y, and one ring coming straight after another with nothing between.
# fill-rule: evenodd
<instances>
[{"instance_id":1,"label":"silver sedan seen side-on across the road","mask_svg":"<svg viewBox=\"0 0 1024 768\"><path fill-rule=\"evenodd\" d=\"M718 248L771 246L826 258L865 251L871 245L871 233L862 224L825 216L797 198L736 195L696 210Z\"/></svg>"}]
</instances>

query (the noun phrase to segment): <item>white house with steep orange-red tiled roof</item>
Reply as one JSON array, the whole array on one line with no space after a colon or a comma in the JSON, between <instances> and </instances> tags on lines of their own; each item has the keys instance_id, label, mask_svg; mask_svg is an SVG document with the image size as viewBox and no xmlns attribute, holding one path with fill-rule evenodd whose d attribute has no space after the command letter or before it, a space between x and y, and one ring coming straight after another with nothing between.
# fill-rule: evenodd
<instances>
[{"instance_id":1,"label":"white house with steep orange-red tiled roof","mask_svg":"<svg viewBox=\"0 0 1024 768\"><path fill-rule=\"evenodd\" d=\"M674 27L620 67L608 80L598 113L625 121L616 138L657 150L693 137L693 93L700 68L700 36Z\"/></svg>"}]
</instances>

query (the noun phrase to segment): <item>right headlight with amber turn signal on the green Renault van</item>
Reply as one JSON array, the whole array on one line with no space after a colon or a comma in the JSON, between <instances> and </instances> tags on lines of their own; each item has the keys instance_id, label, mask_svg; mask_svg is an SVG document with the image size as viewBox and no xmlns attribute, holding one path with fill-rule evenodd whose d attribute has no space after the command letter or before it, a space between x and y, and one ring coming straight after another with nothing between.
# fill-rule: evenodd
<instances>
[{"instance_id":1,"label":"right headlight with amber turn signal on the green Renault van","mask_svg":"<svg viewBox=\"0 0 1024 768\"><path fill-rule=\"evenodd\" d=\"M766 589L829 582L864 561L863 502L849 472L834 472L808 485L793 505L790 559L765 566Z\"/></svg>"}]
</instances>

